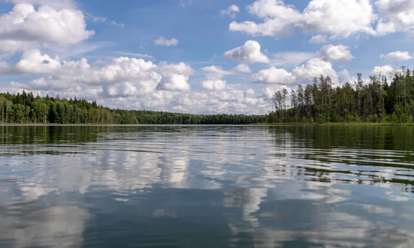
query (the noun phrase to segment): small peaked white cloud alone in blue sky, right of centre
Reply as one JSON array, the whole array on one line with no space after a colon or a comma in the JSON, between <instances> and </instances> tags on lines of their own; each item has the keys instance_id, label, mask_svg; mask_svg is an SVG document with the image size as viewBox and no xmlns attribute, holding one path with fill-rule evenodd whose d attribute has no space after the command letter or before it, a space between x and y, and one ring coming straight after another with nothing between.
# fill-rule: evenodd
<instances>
[{"instance_id":1,"label":"small peaked white cloud alone in blue sky, right of centre","mask_svg":"<svg viewBox=\"0 0 414 248\"><path fill-rule=\"evenodd\" d=\"M233 59L243 63L268 63L268 57L260 51L261 47L257 41L246 41L241 47L227 51L223 54L224 59Z\"/></svg>"}]
</instances>

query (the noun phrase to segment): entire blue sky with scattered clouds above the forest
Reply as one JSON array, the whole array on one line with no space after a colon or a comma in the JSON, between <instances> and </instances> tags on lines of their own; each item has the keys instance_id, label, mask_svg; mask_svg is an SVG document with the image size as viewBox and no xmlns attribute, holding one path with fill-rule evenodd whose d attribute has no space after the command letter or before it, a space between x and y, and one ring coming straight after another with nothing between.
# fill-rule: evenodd
<instances>
[{"instance_id":1,"label":"entire blue sky with scattered clouds above the forest","mask_svg":"<svg viewBox=\"0 0 414 248\"><path fill-rule=\"evenodd\" d=\"M0 91L266 114L271 96L413 68L414 0L0 0Z\"/></svg>"}]
</instances>

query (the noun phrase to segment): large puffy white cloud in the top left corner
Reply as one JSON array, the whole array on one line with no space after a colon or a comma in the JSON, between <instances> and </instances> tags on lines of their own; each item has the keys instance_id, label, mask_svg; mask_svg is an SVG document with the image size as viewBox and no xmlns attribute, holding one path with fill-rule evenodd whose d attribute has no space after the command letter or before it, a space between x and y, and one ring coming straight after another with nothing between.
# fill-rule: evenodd
<instances>
[{"instance_id":1,"label":"large puffy white cloud in the top left corner","mask_svg":"<svg viewBox=\"0 0 414 248\"><path fill-rule=\"evenodd\" d=\"M30 4L19 3L0 17L0 39L3 40L69 45L86 40L94 33L86 30L82 12L75 9L41 6L36 10Z\"/></svg>"}]
</instances>

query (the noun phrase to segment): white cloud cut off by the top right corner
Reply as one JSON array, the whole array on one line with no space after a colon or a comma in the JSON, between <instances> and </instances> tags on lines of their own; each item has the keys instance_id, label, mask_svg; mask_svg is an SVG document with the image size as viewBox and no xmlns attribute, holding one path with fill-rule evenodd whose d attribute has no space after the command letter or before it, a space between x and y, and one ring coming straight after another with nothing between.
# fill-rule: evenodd
<instances>
[{"instance_id":1,"label":"white cloud cut off by the top right corner","mask_svg":"<svg viewBox=\"0 0 414 248\"><path fill-rule=\"evenodd\" d=\"M414 31L413 0L379 0L375 3L381 16L377 24L377 34Z\"/></svg>"}]
</instances>

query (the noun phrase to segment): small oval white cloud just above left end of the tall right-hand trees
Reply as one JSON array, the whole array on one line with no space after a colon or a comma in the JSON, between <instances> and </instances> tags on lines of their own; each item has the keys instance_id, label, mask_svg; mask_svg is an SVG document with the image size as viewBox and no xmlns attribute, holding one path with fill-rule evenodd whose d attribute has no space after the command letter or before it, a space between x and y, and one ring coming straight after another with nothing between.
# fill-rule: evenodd
<instances>
[{"instance_id":1,"label":"small oval white cloud just above left end of the tall right-hand trees","mask_svg":"<svg viewBox=\"0 0 414 248\"><path fill-rule=\"evenodd\" d=\"M284 69L268 68L261 70L252 76L253 83L275 83L279 85L291 85L295 83L296 77Z\"/></svg>"}]
</instances>

